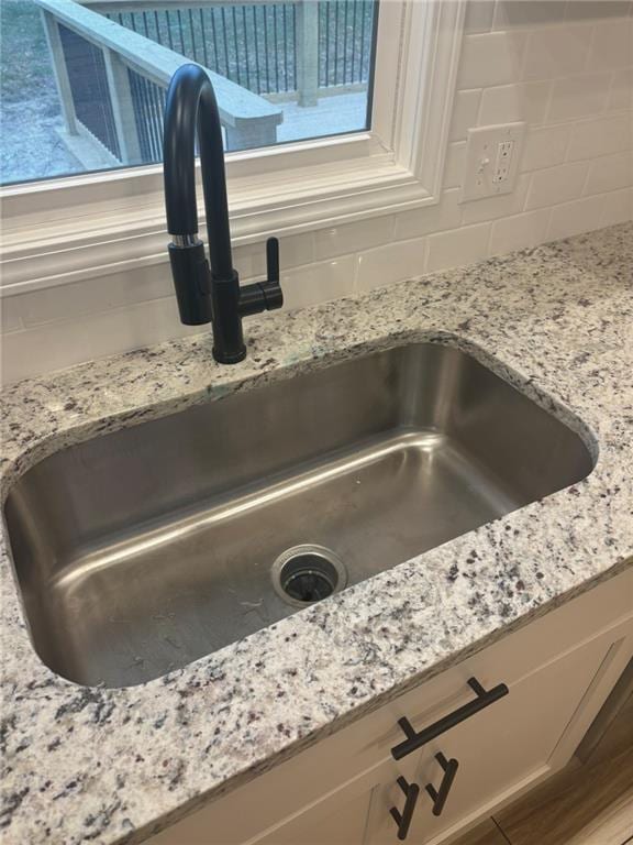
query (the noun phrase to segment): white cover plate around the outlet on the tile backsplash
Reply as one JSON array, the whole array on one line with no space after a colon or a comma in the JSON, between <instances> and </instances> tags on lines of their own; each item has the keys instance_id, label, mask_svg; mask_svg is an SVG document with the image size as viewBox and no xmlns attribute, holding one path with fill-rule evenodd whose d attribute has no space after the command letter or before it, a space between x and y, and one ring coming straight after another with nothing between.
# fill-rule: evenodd
<instances>
[{"instance_id":1,"label":"white cover plate around the outlet on the tile backsplash","mask_svg":"<svg viewBox=\"0 0 633 845\"><path fill-rule=\"evenodd\" d=\"M499 123L468 130L466 144L466 173L462 184L462 202L485 197L511 194L517 184L519 162L523 152L525 123ZM508 176L503 182L493 182L495 165L499 144L513 141L512 157Z\"/></svg>"}]
</instances>

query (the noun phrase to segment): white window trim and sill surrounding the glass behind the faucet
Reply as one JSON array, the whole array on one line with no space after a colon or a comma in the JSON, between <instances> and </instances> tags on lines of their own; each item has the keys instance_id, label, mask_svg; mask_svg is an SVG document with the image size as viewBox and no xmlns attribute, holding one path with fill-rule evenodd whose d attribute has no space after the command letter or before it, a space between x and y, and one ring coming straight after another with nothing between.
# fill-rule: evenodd
<instances>
[{"instance_id":1,"label":"white window trim and sill surrounding the glass behind the faucet","mask_svg":"<svg viewBox=\"0 0 633 845\"><path fill-rule=\"evenodd\" d=\"M227 155L235 245L440 200L464 9L382 0L371 132ZM167 261L160 165L11 186L0 198L2 296Z\"/></svg>"}]
</instances>

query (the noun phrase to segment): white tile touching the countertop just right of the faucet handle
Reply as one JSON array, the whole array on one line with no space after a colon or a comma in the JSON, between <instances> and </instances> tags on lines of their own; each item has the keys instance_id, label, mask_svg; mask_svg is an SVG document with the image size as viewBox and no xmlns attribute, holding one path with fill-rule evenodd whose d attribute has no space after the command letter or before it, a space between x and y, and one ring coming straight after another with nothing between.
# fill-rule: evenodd
<instances>
[{"instance_id":1,"label":"white tile touching the countertop just right of the faucet handle","mask_svg":"<svg viewBox=\"0 0 633 845\"><path fill-rule=\"evenodd\" d=\"M354 293L354 255L296 267L281 273L284 309L306 308Z\"/></svg>"}]
</instances>

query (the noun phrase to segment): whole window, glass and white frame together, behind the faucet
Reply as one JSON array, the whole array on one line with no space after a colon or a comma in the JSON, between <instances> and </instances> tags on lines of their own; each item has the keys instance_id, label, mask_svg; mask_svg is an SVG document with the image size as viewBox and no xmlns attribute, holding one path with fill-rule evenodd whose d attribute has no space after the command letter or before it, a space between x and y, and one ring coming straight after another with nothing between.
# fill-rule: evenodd
<instances>
[{"instance_id":1,"label":"whole window, glass and white frame together, behind the faucet","mask_svg":"<svg viewBox=\"0 0 633 845\"><path fill-rule=\"evenodd\" d=\"M96 275L107 276L114 270L121 272L166 261L163 174L160 164L151 163L160 157L157 89L162 86L164 89L174 70L190 61L178 50L192 51L196 41L198 58L200 50L203 57L204 46L198 37L202 23L198 29L197 22L201 9L208 39L211 33L204 61L213 65L215 56L216 69L229 74L218 74L214 81L218 99L233 103L232 112L227 111L222 120L229 150L231 229L236 244L260 241L269 234L282 237L393 213L438 200L462 42L464 0L381 0L379 4L371 0L288 0L286 4L274 6L263 0L251 0L249 3L232 3L230 0L188 2L195 6L186 6L184 0L0 0L5 39L2 55L10 56L12 62L16 53L24 56L3 78L4 119L11 114L15 121L13 130L4 127L4 136L14 134L15 139L11 140L12 147L3 150L3 172L12 167L15 174L16 167L29 166L31 175L23 171L20 178L34 179L20 182L12 177L8 179L11 184L0 190L3 215L1 284L11 287L11 293ZM255 42L249 42L248 67L257 68L259 55L259 76L252 70L246 76L245 37L248 36L244 33L249 33L253 39L255 31L248 28L248 12L245 13L246 29L241 29L240 19L243 24L244 14L238 14L237 10L251 9L253 19L253 7L256 7L255 20L259 26L255 34L262 47L266 25L268 36L274 32L275 8L277 43L282 44L282 6L295 9L292 13L286 12L286 34L288 36L291 31L296 42L288 36L287 43L293 44L288 56L284 51L278 52L277 86L277 70L273 73L270 69L270 57L268 75L262 75L264 54L253 52ZM134 7L142 7L140 18L131 17L138 14L133 11ZM22 14L27 13L26 18L31 15L30 26L34 25L37 15L44 14L45 20L54 17L57 35L55 30L51 33L46 26L46 32L41 30L40 35L31 35L35 37L31 48L25 46L26 19L16 23L20 8ZM35 18L34 9L37 9ZM169 19L154 15L154 11L158 13L167 9ZM198 19L192 12L192 30L188 9L198 10ZM222 9L227 21L224 30L227 62L223 41L218 41L214 53L211 25L212 20L219 23ZM307 48L300 43L298 33L301 32L300 17L309 9L312 14L316 10L318 14L319 39L314 41L310 36L313 58L316 50L316 70L314 63L310 65L312 92L316 78L316 106L301 105L297 94L308 91L304 74L309 63L303 61ZM235 29L231 29L233 10ZM113 18L109 19L108 14ZM291 14L295 22L289 26ZM98 44L96 36L88 34L96 20L99 23ZM60 28L66 28L70 34ZM349 35L354 31L355 37ZM312 33L312 30L308 32ZM215 35L216 39L220 36L218 26ZM158 43L160 39L163 44ZM88 68L75 80L76 97L69 75L79 72L68 70L66 66L69 50L75 56L73 61L80 61L81 67ZM58 78L58 86L53 80L48 58L55 53L64 59L59 59L57 66L66 68ZM238 55L242 62L240 77ZM215 73L212 68L211 72ZM286 78L288 85L295 85L297 78L297 90L265 91L273 77L279 88L284 88ZM252 90L257 85L260 92ZM322 91L323 88L326 90ZM349 90L341 94L344 88ZM40 122L29 117L24 98L21 102L18 96L26 90L32 92L32 100L38 101ZM82 96L77 90L81 90ZM113 90L116 92L114 97ZM40 94L35 95L35 91ZM236 91L243 92L240 98ZM287 99L289 95L292 99ZM356 102L360 106L354 117L354 110L343 109L342 105L358 96L362 99ZM64 97L67 103L73 103L74 135L64 122L59 105ZM247 101L248 108L255 98L264 109L259 118L268 127L266 143L260 136L254 140L253 132L245 128L244 121L251 120L253 114L248 108L240 111L241 98ZM309 99L307 101L309 103ZM140 118L135 109L145 109L147 119ZM284 123L286 128L291 125L284 109L300 116L325 109L332 117L329 123L319 120L316 128L312 123L309 130L302 130L303 138L310 136L306 140L274 138L270 112L284 114L284 121L277 123L277 128ZM301 120L306 121L306 127L308 121L303 117ZM257 125L257 131L259 129L262 127ZM54 151L49 150L49 156L42 155L44 143L37 142L38 135L35 135L31 156L30 132L46 132L54 139L55 146ZM341 132L343 134L338 134ZM316 136L318 133L326 134ZM241 140L236 141L237 138ZM75 151L71 144L76 145ZM12 156L7 154L8 149L13 150ZM48 175L53 175L49 162L54 152L69 154L75 161L87 156L88 161L95 151L103 157L97 166L88 167L91 172L42 177L45 167L48 167ZM22 164L19 160L23 160ZM125 166L122 161L126 162ZM34 173L37 168L40 176ZM68 172L69 168L65 169L63 165L57 168L58 174Z\"/></svg>"}]
</instances>

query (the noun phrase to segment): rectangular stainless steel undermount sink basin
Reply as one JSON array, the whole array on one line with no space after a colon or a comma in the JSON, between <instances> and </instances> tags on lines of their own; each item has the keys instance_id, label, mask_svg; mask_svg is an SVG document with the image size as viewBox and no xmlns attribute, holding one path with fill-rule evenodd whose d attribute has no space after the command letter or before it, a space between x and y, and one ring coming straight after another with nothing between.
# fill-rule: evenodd
<instances>
[{"instance_id":1,"label":"rectangular stainless steel undermount sink basin","mask_svg":"<svg viewBox=\"0 0 633 845\"><path fill-rule=\"evenodd\" d=\"M65 449L18 482L5 520L42 660L127 687L591 469L567 426L426 343Z\"/></svg>"}]
</instances>

